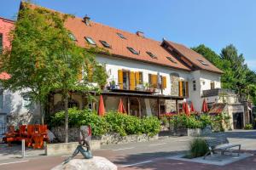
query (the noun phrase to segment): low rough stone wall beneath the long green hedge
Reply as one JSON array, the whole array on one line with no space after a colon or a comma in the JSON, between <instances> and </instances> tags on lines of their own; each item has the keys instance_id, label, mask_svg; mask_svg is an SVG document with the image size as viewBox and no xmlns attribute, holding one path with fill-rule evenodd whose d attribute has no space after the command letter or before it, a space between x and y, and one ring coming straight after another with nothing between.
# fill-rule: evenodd
<instances>
[{"instance_id":1,"label":"low rough stone wall beneath the long green hedge","mask_svg":"<svg viewBox=\"0 0 256 170\"><path fill-rule=\"evenodd\" d=\"M55 134L56 139L60 142L65 141L65 130L64 127L53 127L51 132ZM141 135L128 135L120 136L118 133L105 134L102 137L92 137L93 140L99 140L101 144L126 144L126 143L135 143L135 142L145 142L150 140L158 139L158 135L153 137L148 136L147 134ZM79 140L79 128L71 127L68 128L68 141L76 142Z\"/></svg>"}]
</instances>

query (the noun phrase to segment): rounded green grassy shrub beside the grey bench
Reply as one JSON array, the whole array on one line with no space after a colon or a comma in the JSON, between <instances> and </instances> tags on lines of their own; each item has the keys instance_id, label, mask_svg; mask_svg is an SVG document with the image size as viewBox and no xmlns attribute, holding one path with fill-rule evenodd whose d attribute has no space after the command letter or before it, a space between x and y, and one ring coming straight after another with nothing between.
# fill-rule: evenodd
<instances>
[{"instance_id":1,"label":"rounded green grassy shrub beside the grey bench","mask_svg":"<svg viewBox=\"0 0 256 170\"><path fill-rule=\"evenodd\" d=\"M207 154L208 146L204 139L196 138L193 139L189 144L189 157L201 157Z\"/></svg>"}]
</instances>

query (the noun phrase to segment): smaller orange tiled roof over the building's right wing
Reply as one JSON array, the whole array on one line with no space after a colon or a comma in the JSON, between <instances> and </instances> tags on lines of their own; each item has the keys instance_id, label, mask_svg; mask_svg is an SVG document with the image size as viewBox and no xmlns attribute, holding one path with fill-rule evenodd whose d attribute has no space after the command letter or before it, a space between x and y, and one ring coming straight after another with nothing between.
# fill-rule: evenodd
<instances>
[{"instance_id":1,"label":"smaller orange tiled roof over the building's right wing","mask_svg":"<svg viewBox=\"0 0 256 170\"><path fill-rule=\"evenodd\" d=\"M189 61L193 64L199 67L201 70L205 71L212 71L216 73L224 73L223 71L219 70L215 65L212 65L210 61L208 61L205 57L203 57L201 54L196 53L194 50L185 47L182 44L171 42L171 41L165 41L168 45L170 45L174 50L177 51L178 54L183 55L186 59L189 59ZM207 65L203 65L201 63L203 61Z\"/></svg>"}]
</instances>

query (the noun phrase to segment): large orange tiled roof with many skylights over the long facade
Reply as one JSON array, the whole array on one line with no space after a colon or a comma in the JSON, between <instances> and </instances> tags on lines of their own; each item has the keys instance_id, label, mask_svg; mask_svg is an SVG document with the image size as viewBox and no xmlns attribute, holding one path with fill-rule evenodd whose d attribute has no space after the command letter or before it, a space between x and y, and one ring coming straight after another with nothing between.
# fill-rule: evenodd
<instances>
[{"instance_id":1,"label":"large orange tiled roof with many skylights over the long facade","mask_svg":"<svg viewBox=\"0 0 256 170\"><path fill-rule=\"evenodd\" d=\"M88 44L84 40L84 37L91 37L96 42L96 45L100 48L104 48L100 40L108 42L108 44L111 45L111 48L106 49L108 49L110 54L115 56L190 71L187 66L175 59L172 54L166 51L165 48L162 48L160 46L161 42L157 42L146 37L139 37L137 34L121 31L110 26L104 26L93 21L90 21L90 26L86 26L83 19L80 18L67 19L65 26L69 31L73 32L73 35L77 39L78 45L81 47L86 47ZM125 39L120 38L117 33L121 33ZM139 52L139 54L132 54L127 47L134 48L137 52ZM147 51L154 54L157 59L151 58L146 53ZM177 63L172 63L172 61L166 59L166 57L171 57Z\"/></svg>"}]
</instances>

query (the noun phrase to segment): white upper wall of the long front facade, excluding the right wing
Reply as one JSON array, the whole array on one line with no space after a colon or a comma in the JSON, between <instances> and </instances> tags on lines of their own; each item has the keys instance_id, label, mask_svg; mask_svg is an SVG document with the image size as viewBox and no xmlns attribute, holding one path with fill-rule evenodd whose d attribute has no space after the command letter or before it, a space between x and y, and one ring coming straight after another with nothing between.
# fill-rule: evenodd
<instances>
[{"instance_id":1,"label":"white upper wall of the long front facade, excluding the right wing","mask_svg":"<svg viewBox=\"0 0 256 170\"><path fill-rule=\"evenodd\" d=\"M164 89L163 94L171 94L171 77L170 74L176 72L181 79L187 80L190 73L188 71L175 70L172 68L160 66L160 65L150 65L148 63L143 63L139 61L134 61L131 59L119 59L104 55L97 55L96 60L106 65L106 70L109 74L108 82L114 80L118 82L118 70L126 69L129 71L142 71L143 72L143 82L148 82L148 74L157 74L160 72L160 76L166 77L166 89Z\"/></svg>"}]
</instances>

